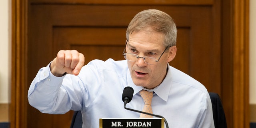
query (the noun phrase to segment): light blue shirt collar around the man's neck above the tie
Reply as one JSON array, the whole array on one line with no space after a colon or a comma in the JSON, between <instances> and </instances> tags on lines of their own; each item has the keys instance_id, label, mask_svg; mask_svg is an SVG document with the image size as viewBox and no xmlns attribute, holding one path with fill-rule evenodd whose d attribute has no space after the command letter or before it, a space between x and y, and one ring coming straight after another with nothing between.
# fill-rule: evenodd
<instances>
[{"instance_id":1,"label":"light blue shirt collar around the man's neck above the tie","mask_svg":"<svg viewBox=\"0 0 256 128\"><path fill-rule=\"evenodd\" d=\"M168 64L167 74L166 74L163 82L154 89L146 89L146 88L141 87L141 86L136 86L132 81L132 77L130 75L129 69L128 69L128 72L127 72L127 85L131 86L133 88L133 90L134 90L133 95L137 94L138 92L140 92L140 90L144 89L144 90L147 90L149 92L155 92L160 98L162 98L164 101L167 101L169 93L170 93L170 89L171 89L171 86L172 86L172 74L171 74L171 71L170 71L169 67L170 66Z\"/></svg>"}]
</instances>

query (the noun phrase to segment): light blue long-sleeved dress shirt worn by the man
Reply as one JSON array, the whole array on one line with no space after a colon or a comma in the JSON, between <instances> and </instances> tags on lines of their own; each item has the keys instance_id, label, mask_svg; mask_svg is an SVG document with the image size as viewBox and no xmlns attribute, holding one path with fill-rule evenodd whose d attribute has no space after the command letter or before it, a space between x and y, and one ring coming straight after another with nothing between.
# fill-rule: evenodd
<instances>
[{"instance_id":1,"label":"light blue long-sleeved dress shirt worn by the man","mask_svg":"<svg viewBox=\"0 0 256 128\"><path fill-rule=\"evenodd\" d=\"M49 64L50 65L50 64ZM138 118L124 109L122 92L131 86L134 96L127 108L142 110L143 87L132 82L127 61L93 60L78 76L53 76L49 65L41 68L28 90L31 106L43 113L64 114L81 110L83 128L99 128L100 118ZM168 65L163 82L154 88L153 114L166 118L169 128L214 128L212 105L206 88L187 74Z\"/></svg>"}]
</instances>

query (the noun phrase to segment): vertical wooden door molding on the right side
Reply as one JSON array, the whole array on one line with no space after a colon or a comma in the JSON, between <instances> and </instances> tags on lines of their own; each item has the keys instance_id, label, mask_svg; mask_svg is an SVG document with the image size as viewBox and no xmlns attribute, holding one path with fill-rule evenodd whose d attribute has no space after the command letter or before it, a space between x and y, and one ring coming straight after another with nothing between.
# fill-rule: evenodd
<instances>
[{"instance_id":1,"label":"vertical wooden door molding on the right side","mask_svg":"<svg viewBox=\"0 0 256 128\"><path fill-rule=\"evenodd\" d=\"M234 124L249 128L249 0L234 0Z\"/></svg>"}]
</instances>

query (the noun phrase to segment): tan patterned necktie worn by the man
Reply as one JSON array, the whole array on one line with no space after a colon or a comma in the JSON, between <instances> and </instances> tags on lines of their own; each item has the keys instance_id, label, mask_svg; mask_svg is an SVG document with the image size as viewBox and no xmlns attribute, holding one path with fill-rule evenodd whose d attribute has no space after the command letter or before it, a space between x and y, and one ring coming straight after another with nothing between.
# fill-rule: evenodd
<instances>
[{"instance_id":1,"label":"tan patterned necktie worn by the man","mask_svg":"<svg viewBox=\"0 0 256 128\"><path fill-rule=\"evenodd\" d=\"M141 90L140 91L140 96L144 100L144 107L143 107L143 112L148 112L148 113L153 113L152 112L152 107L151 107L151 101L153 97L153 92L148 92L146 90ZM140 114L140 118L152 118L153 116L147 115L147 114Z\"/></svg>"}]
</instances>

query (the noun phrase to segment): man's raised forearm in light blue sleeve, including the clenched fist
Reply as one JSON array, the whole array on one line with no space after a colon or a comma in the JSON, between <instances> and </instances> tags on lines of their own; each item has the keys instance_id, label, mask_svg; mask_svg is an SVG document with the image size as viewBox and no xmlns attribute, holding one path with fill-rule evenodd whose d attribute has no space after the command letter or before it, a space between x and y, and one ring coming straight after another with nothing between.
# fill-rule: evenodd
<instances>
[{"instance_id":1,"label":"man's raised forearm in light blue sleeve, including the clenched fist","mask_svg":"<svg viewBox=\"0 0 256 128\"><path fill-rule=\"evenodd\" d=\"M41 68L32 81L28 90L29 104L43 113L50 114L63 114L72 106L81 108L80 92L84 91L74 91L74 88L80 88L80 79L72 76L77 76L82 66L83 54L76 50L60 50L56 58L48 66ZM64 77L65 72L70 75ZM64 78L66 86L63 85Z\"/></svg>"}]
</instances>

